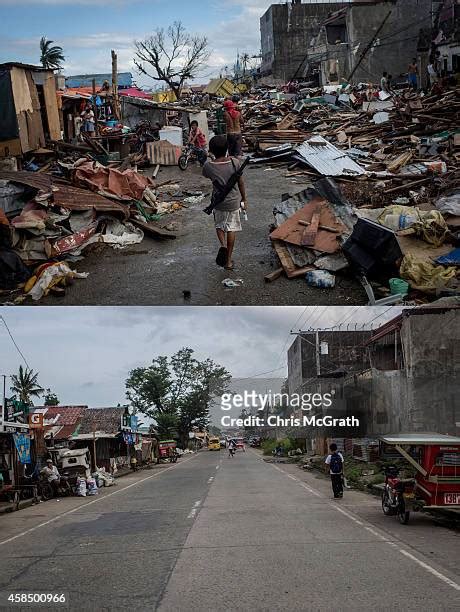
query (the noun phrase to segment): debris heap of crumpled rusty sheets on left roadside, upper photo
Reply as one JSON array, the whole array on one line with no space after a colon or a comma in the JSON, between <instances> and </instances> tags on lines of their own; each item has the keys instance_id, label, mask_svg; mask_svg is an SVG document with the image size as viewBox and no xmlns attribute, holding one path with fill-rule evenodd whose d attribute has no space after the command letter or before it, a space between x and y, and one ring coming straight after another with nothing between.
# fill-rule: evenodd
<instances>
[{"instance_id":1,"label":"debris heap of crumpled rusty sheets on left roadside, upper photo","mask_svg":"<svg viewBox=\"0 0 460 612\"><path fill-rule=\"evenodd\" d=\"M87 276L69 264L91 245L121 249L141 242L144 232L176 237L159 223L182 205L170 200L167 184L87 158L55 168L0 171L0 289L23 285L25 296L39 300Z\"/></svg>"}]
</instances>

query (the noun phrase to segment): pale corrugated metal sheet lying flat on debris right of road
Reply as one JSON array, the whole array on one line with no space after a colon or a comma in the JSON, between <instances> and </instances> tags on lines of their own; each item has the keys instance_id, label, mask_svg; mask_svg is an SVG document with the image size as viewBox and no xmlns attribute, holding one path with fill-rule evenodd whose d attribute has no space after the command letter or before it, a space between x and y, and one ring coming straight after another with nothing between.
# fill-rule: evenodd
<instances>
[{"instance_id":1,"label":"pale corrugated metal sheet lying flat on debris right of road","mask_svg":"<svg viewBox=\"0 0 460 612\"><path fill-rule=\"evenodd\" d=\"M364 168L322 136L312 136L296 148L295 157L324 176L358 176Z\"/></svg>"}]
</instances>

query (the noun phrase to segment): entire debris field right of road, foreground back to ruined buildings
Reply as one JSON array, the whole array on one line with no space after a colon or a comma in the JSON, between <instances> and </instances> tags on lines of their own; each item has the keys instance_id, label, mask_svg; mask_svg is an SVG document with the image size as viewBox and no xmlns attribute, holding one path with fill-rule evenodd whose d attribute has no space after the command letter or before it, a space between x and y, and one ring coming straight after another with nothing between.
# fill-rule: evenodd
<instances>
[{"instance_id":1,"label":"entire debris field right of road, foreground back to ruined buildings","mask_svg":"<svg viewBox=\"0 0 460 612\"><path fill-rule=\"evenodd\" d=\"M288 163L286 177L311 181L274 207L282 267L266 280L332 287L351 269L370 303L375 288L387 303L457 295L460 89L357 103L328 93L247 105L251 163Z\"/></svg>"}]
</instances>

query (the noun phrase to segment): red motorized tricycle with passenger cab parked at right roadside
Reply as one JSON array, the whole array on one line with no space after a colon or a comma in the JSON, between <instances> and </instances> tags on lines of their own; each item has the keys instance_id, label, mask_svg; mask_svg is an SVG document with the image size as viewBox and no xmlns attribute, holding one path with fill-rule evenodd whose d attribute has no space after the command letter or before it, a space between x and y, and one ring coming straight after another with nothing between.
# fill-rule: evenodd
<instances>
[{"instance_id":1,"label":"red motorized tricycle with passenger cab parked at right roadside","mask_svg":"<svg viewBox=\"0 0 460 612\"><path fill-rule=\"evenodd\" d=\"M405 525L412 511L460 509L460 437L396 434L382 436L380 443L381 455L394 449L415 469L413 478L400 478L397 467L387 467L382 493L385 515L396 515Z\"/></svg>"}]
</instances>

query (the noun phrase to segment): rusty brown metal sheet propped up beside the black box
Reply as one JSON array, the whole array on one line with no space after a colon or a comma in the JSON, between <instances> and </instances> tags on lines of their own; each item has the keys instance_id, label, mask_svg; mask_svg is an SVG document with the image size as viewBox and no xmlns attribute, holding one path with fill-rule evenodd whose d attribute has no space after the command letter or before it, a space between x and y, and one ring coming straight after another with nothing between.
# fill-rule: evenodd
<instances>
[{"instance_id":1,"label":"rusty brown metal sheet propped up beside the black box","mask_svg":"<svg viewBox=\"0 0 460 612\"><path fill-rule=\"evenodd\" d=\"M306 206L289 217L270 234L270 238L302 246L305 225L300 224L299 221L311 222L314 213L318 210L320 210L319 225L334 228L337 233L318 229L315 242L310 248L323 253L335 253L340 248L337 238L346 230L346 227L337 219L330 204L320 198L313 198Z\"/></svg>"}]
</instances>

